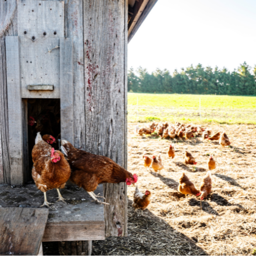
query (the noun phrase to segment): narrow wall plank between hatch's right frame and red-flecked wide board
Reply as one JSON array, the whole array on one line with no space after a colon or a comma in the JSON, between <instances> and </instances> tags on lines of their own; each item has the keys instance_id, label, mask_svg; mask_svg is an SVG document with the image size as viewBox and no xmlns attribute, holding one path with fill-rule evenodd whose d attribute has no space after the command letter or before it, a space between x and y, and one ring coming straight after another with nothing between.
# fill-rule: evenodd
<instances>
[{"instance_id":1,"label":"narrow wall plank between hatch's right frame and red-flecked wide board","mask_svg":"<svg viewBox=\"0 0 256 256\"><path fill-rule=\"evenodd\" d=\"M65 0L66 37L73 41L74 145L85 149L82 0Z\"/></svg>"}]
</instances>

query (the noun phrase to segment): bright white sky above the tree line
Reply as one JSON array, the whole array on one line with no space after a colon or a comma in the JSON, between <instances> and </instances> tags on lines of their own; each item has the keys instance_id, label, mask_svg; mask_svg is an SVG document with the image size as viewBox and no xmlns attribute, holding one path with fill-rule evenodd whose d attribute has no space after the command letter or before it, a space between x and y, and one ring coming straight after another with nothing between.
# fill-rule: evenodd
<instances>
[{"instance_id":1,"label":"bright white sky above the tree line","mask_svg":"<svg viewBox=\"0 0 256 256\"><path fill-rule=\"evenodd\" d=\"M256 65L255 0L158 0L128 44L128 68Z\"/></svg>"}]
</instances>

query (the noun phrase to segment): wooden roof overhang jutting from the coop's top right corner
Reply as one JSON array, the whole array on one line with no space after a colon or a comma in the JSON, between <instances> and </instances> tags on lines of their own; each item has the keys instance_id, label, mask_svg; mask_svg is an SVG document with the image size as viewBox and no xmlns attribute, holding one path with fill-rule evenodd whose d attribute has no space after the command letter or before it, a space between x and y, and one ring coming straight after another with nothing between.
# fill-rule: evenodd
<instances>
[{"instance_id":1,"label":"wooden roof overhang jutting from the coop's top right corner","mask_svg":"<svg viewBox=\"0 0 256 256\"><path fill-rule=\"evenodd\" d=\"M131 39L133 38L135 33L138 31L139 27L141 26L141 24L145 20L148 13L150 13L152 8L155 6L157 1L158 0L149 0L149 1L144 0L144 2L147 2L146 5L143 5L144 8L142 9L142 7L141 7L140 10L135 15L135 17L132 18L129 22L128 42L131 41Z\"/></svg>"}]
</instances>

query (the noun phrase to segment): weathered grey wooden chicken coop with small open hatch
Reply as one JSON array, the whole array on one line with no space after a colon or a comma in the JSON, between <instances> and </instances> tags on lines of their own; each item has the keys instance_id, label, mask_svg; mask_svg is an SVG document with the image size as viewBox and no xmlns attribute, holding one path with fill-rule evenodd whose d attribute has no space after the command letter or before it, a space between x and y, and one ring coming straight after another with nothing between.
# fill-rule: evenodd
<instances>
[{"instance_id":1,"label":"weathered grey wooden chicken coop with small open hatch","mask_svg":"<svg viewBox=\"0 0 256 256\"><path fill-rule=\"evenodd\" d=\"M37 132L53 135L56 149L58 139L66 139L126 168L127 42L156 2L1 1L1 212L5 207L39 206L31 177ZM74 198L84 197L85 191L74 191ZM80 255L91 253L92 240L126 236L125 183L104 184L98 192L110 205L85 198L79 202L79 217L76 204L52 213L45 210L45 231L38 234L36 244L61 241L63 254L72 250ZM17 195L24 199L17 200ZM64 218L60 209L70 216Z\"/></svg>"}]
</instances>

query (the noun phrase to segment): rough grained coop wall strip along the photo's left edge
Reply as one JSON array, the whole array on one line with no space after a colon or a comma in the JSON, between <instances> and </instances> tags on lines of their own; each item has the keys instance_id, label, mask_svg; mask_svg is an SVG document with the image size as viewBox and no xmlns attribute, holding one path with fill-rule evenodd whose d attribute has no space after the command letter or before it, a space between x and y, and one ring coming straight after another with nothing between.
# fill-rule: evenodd
<instances>
[{"instance_id":1,"label":"rough grained coop wall strip along the photo's left edge","mask_svg":"<svg viewBox=\"0 0 256 256\"><path fill-rule=\"evenodd\" d=\"M6 36L17 35L16 0L0 1L0 184L11 183L6 77Z\"/></svg>"}]
</instances>

